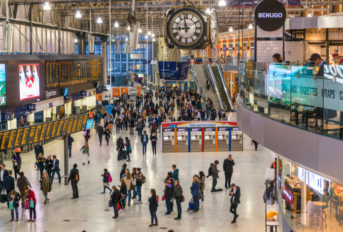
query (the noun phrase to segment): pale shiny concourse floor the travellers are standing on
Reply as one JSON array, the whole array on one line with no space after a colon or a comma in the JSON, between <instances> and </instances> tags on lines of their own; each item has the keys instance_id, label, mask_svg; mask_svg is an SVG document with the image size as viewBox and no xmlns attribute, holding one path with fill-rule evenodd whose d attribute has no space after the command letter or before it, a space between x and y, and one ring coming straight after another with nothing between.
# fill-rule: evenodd
<instances>
[{"instance_id":1,"label":"pale shiny concourse floor the travellers are standing on","mask_svg":"<svg viewBox=\"0 0 343 232\"><path fill-rule=\"evenodd\" d=\"M232 113L233 114L233 113ZM235 115L231 115L232 118ZM230 117L231 118L231 117ZM123 139L128 131L120 133ZM29 212L23 212L19 207L19 221L10 222L11 212L6 203L0 204L0 231L264 231L264 203L262 195L265 189L264 172L276 157L272 151L259 146L254 150L250 145L251 139L244 135L243 151L222 152L181 152L162 153L160 149L160 134L158 134L157 155L152 155L149 141L147 155L142 156L142 144L137 132L129 136L133 152L131 162L117 161L115 143L118 137L111 137L110 145L106 145L105 138L102 146L99 146L98 136L94 129L91 130L90 164L82 165L81 146L84 144L83 132L72 135L75 142L72 148L72 158L69 159L69 170L74 163L78 164L80 173L79 199L71 199L72 187L65 186L62 178L58 183L57 175L52 184L54 198L47 205L43 205L44 196L40 190L39 171L34 168L35 153L30 151L22 153L21 171L24 172L35 191L37 199L37 221L26 222ZM60 161L61 175L64 174L63 165L63 141L54 140L44 145L45 157L55 154ZM229 212L230 198L229 189L224 188L224 172L219 173L217 188L223 191L211 192L212 177L205 181L204 202L200 201L200 209L197 213L187 212L188 201L191 199L190 186L192 176L203 171L207 175L208 168L215 160L219 160L218 170L223 170L223 161L228 154L232 154L235 162L231 183L241 187L241 204L238 205L237 222L231 224L233 215ZM131 170L133 167L141 167L147 181L142 186L142 204L135 204L138 200L131 200L131 206L125 208L125 212L119 213L117 219L113 219L113 208L107 206L110 200L109 190L106 194L100 194L103 190L100 174L107 168L113 178L112 185L119 184L121 165L127 164ZM12 169L12 162L6 161L6 169ZM179 169L180 185L183 188L185 202L182 203L182 219L174 220L177 216L177 207L174 204L174 212L164 215L166 207L161 201L163 195L163 180L168 171L172 171L172 165L176 164ZM14 175L13 175L14 176ZM16 183L15 183L16 184ZM150 224L150 212L148 197L150 189L155 188L160 196L157 210L158 226L148 227ZM18 188L16 187L16 190ZM133 204L132 204L133 203ZM161 230L162 229L162 230ZM269 228L268 228L269 229Z\"/></svg>"}]
</instances>

